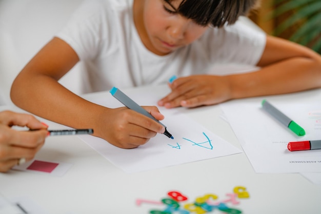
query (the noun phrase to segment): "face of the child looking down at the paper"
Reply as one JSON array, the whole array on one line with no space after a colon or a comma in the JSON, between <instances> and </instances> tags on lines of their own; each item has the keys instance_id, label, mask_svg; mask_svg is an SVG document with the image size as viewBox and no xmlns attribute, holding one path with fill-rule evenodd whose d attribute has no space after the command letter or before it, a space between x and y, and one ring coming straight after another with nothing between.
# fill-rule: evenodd
<instances>
[{"instance_id":1,"label":"face of the child looking down at the paper","mask_svg":"<svg viewBox=\"0 0 321 214\"><path fill-rule=\"evenodd\" d=\"M144 45L157 55L166 55L177 48L197 40L208 27L175 12L182 0L173 0L171 5L164 0L135 0L143 4L143 23L135 22ZM138 13L137 13L138 14ZM140 25L137 26L137 25Z\"/></svg>"}]
</instances>

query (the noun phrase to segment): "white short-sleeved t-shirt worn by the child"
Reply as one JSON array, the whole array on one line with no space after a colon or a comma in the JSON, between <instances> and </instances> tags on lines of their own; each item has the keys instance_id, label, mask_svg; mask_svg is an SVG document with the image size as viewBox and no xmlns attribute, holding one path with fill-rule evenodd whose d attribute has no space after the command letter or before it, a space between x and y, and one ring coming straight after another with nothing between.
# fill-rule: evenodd
<instances>
[{"instance_id":1,"label":"white short-sleeved t-shirt worn by the child","mask_svg":"<svg viewBox=\"0 0 321 214\"><path fill-rule=\"evenodd\" d=\"M209 28L197 41L159 56L142 43L133 21L133 0L88 0L56 36L88 70L90 91L168 82L173 75L207 73L217 64L256 65L266 36L237 22Z\"/></svg>"}]
</instances>

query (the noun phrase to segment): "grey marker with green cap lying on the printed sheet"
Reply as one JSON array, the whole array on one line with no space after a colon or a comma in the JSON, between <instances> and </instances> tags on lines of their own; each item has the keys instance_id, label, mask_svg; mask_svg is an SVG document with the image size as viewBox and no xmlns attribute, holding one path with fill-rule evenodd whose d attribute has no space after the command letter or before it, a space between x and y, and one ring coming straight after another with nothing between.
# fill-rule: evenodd
<instances>
[{"instance_id":1,"label":"grey marker with green cap lying on the printed sheet","mask_svg":"<svg viewBox=\"0 0 321 214\"><path fill-rule=\"evenodd\" d=\"M276 120L278 120L280 123L291 129L298 136L303 136L306 134L305 130L302 127L300 127L299 125L297 125L297 123L288 118L288 116L277 110L268 101L263 100L262 107L266 112L271 114Z\"/></svg>"}]
</instances>

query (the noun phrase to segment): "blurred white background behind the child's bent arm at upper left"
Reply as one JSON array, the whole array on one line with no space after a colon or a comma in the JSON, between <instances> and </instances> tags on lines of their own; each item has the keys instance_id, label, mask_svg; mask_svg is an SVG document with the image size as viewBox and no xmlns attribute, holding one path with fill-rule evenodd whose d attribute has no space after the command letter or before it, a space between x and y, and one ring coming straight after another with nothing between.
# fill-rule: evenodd
<instances>
[{"instance_id":1,"label":"blurred white background behind the child's bent arm at upper left","mask_svg":"<svg viewBox=\"0 0 321 214\"><path fill-rule=\"evenodd\" d=\"M66 24L81 2L0 0L0 105L12 104L9 94L15 76ZM78 94L82 93L80 67L75 66L60 81Z\"/></svg>"}]
</instances>

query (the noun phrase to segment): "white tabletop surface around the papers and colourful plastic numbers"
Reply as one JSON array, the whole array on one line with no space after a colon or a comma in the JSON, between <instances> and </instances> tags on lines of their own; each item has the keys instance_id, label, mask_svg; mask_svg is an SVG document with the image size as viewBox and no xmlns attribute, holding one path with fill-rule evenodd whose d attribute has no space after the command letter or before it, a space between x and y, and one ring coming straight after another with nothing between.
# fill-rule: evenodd
<instances>
[{"instance_id":1,"label":"white tabletop surface around the papers and colourful plastic numbers","mask_svg":"<svg viewBox=\"0 0 321 214\"><path fill-rule=\"evenodd\" d=\"M166 86L142 87L128 90L153 90L165 95ZM166 91L166 92L164 92ZM93 100L106 95L99 92L84 95ZM269 96L270 101L321 100L321 90ZM250 98L245 100L257 100ZM16 110L16 107L2 107ZM219 105L184 109L192 119L229 143L242 149L229 124L220 118ZM51 128L59 127L50 123ZM245 153L211 160L193 162L146 172L127 174L116 168L75 136L47 138L37 159L73 164L63 177L52 177L25 171L0 174L0 193L7 198L26 196L48 213L149 213L161 209L156 204L137 206L136 199L160 201L167 192L177 190L192 203L207 193L225 199L235 186L244 186L249 199L240 199L231 205L242 213L320 213L321 185L312 184L300 174L258 174ZM184 204L184 203L183 203ZM194 212L195 213L195 212ZM220 213L218 211L212 213Z\"/></svg>"}]
</instances>

